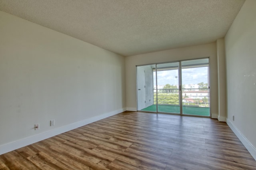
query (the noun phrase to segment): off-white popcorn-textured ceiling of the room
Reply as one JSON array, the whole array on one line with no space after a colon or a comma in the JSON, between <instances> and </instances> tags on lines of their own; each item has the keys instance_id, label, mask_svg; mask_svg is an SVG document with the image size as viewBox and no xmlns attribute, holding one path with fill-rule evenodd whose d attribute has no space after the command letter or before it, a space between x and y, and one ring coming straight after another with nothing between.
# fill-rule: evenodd
<instances>
[{"instance_id":1,"label":"off-white popcorn-textured ceiling of the room","mask_svg":"<svg viewBox=\"0 0 256 170\"><path fill-rule=\"evenodd\" d=\"M0 0L0 10L130 56L223 38L244 0Z\"/></svg>"}]
</instances>

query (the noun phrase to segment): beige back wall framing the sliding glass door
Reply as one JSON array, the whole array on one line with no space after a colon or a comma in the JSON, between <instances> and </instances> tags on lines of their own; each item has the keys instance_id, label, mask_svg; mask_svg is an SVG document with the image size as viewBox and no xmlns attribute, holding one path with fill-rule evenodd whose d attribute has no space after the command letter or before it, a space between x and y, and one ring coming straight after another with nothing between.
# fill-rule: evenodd
<instances>
[{"instance_id":1,"label":"beige back wall framing the sliding glass door","mask_svg":"<svg viewBox=\"0 0 256 170\"><path fill-rule=\"evenodd\" d=\"M216 43L170 49L126 57L126 108L136 111L136 65L210 57L211 113L218 118L218 76Z\"/></svg>"}]
</instances>

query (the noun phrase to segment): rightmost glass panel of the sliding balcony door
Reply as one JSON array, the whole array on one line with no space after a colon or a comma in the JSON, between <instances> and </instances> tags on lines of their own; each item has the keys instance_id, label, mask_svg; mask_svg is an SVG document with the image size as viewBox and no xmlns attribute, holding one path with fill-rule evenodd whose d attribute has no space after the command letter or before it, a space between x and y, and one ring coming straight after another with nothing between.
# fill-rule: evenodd
<instances>
[{"instance_id":1,"label":"rightmost glass panel of the sliding balcony door","mask_svg":"<svg viewBox=\"0 0 256 170\"><path fill-rule=\"evenodd\" d=\"M182 114L210 116L209 59L181 61Z\"/></svg>"}]
</instances>

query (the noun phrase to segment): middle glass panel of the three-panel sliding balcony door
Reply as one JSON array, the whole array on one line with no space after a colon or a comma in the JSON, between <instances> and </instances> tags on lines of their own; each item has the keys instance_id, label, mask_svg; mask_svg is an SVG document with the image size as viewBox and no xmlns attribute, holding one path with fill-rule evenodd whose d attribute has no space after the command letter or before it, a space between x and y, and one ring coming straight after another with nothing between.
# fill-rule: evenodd
<instances>
[{"instance_id":1,"label":"middle glass panel of the three-panel sliding balcony door","mask_svg":"<svg viewBox=\"0 0 256 170\"><path fill-rule=\"evenodd\" d=\"M179 63L156 65L157 111L164 113L180 113L179 100Z\"/></svg>"}]
</instances>

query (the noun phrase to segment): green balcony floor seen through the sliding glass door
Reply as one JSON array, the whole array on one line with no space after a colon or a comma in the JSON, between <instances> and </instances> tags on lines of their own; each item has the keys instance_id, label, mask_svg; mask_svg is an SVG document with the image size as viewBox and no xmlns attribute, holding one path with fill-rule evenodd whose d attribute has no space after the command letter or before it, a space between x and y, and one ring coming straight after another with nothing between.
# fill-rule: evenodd
<instances>
[{"instance_id":1,"label":"green balcony floor seen through the sliding glass door","mask_svg":"<svg viewBox=\"0 0 256 170\"><path fill-rule=\"evenodd\" d=\"M142 111L151 111L156 112L156 105L151 105L142 109ZM192 106L183 106L182 111L184 115L199 115L199 116L210 116L209 107L192 107ZM180 113L180 106L174 105L158 105L158 112L164 113Z\"/></svg>"}]
</instances>

